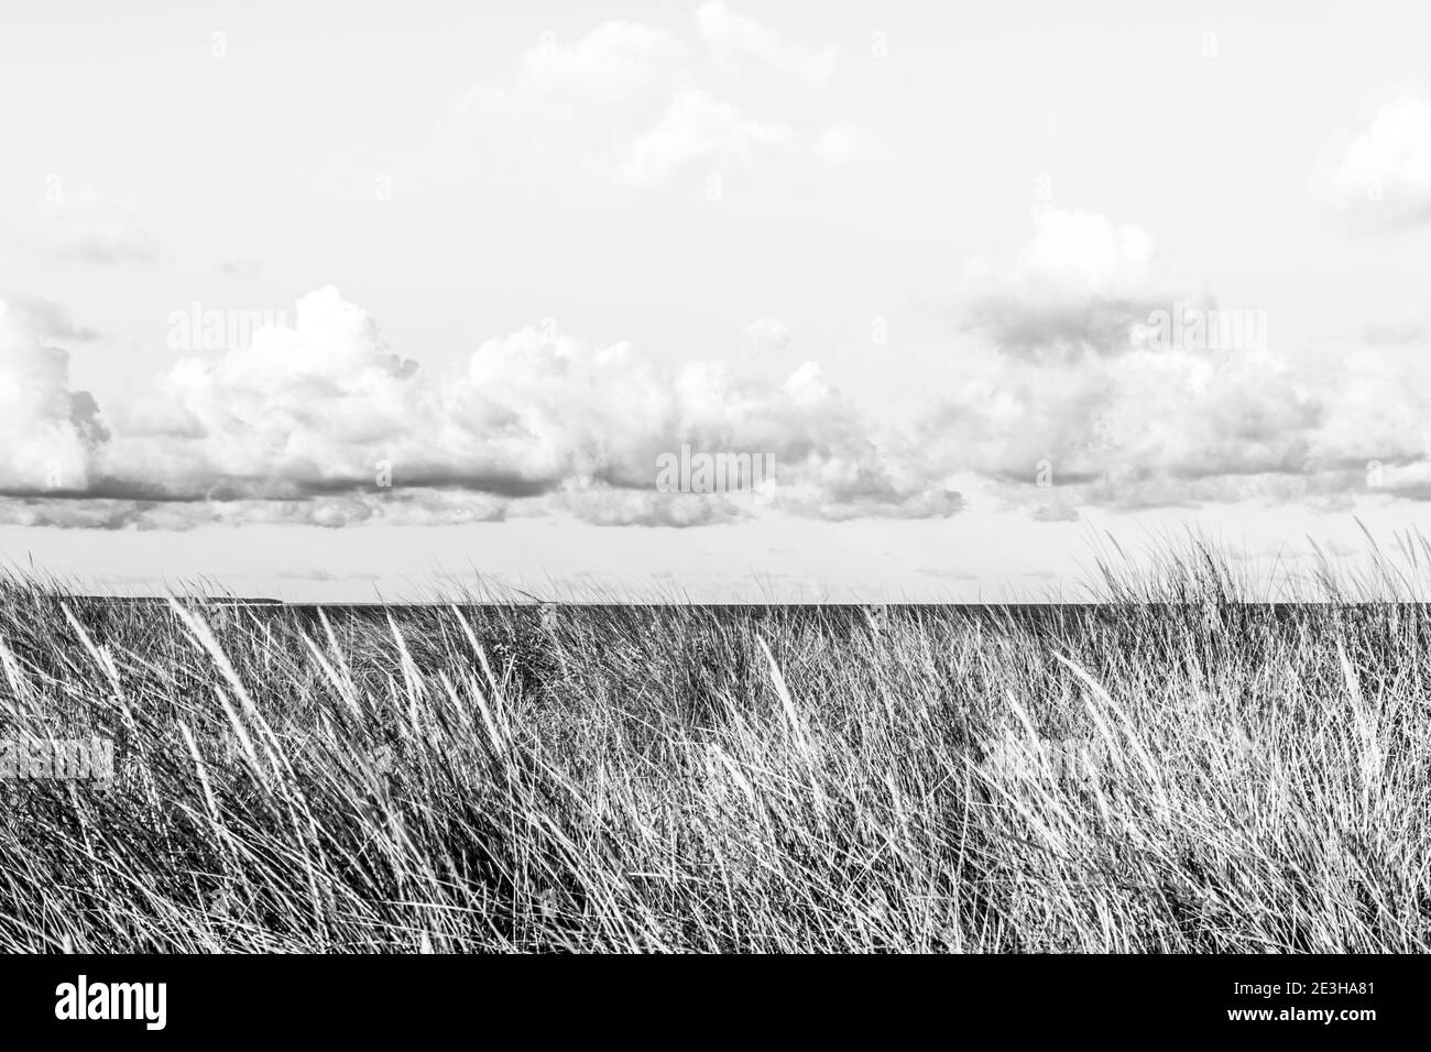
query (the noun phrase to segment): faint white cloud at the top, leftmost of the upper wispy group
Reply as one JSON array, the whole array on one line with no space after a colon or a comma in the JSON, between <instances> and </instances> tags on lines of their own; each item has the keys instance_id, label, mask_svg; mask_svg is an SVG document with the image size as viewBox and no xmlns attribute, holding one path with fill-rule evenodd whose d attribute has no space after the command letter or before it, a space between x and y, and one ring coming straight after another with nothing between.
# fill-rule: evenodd
<instances>
[{"instance_id":1,"label":"faint white cloud at the top, leftmost of the upper wispy group","mask_svg":"<svg viewBox=\"0 0 1431 1052\"><path fill-rule=\"evenodd\" d=\"M571 117L618 106L680 76L685 47L671 33L634 21L607 21L580 40L548 33L522 52L507 86L475 84L464 109L502 116Z\"/></svg>"}]
</instances>

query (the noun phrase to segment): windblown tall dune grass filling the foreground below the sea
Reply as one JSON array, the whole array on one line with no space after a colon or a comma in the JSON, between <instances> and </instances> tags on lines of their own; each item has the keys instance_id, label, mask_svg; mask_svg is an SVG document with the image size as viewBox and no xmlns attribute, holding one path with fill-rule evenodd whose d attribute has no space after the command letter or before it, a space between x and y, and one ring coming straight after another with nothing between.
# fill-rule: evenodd
<instances>
[{"instance_id":1,"label":"windblown tall dune grass filling the foreground below the sea","mask_svg":"<svg viewBox=\"0 0 1431 1052\"><path fill-rule=\"evenodd\" d=\"M0 781L0 949L1431 949L1405 578L1112 567L1039 611L10 580L0 739L104 734L119 777Z\"/></svg>"}]
</instances>

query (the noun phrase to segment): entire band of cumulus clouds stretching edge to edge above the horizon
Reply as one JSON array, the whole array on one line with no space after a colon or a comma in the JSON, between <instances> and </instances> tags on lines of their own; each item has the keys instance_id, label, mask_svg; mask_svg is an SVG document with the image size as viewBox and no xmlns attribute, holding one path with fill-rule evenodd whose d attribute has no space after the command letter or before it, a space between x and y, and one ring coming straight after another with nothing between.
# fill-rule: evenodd
<instances>
[{"instance_id":1,"label":"entire band of cumulus clouds stretching edge to edge above the horizon","mask_svg":"<svg viewBox=\"0 0 1431 1052\"><path fill-rule=\"evenodd\" d=\"M859 412L814 361L767 378L552 326L485 341L459 372L434 375L333 288L303 296L292 325L182 359L102 417L70 388L59 346L84 331L53 305L7 306L0 521L564 512L694 527L770 511L893 518L993 504L1066 521L1093 505L1431 500L1431 341L1415 316L1325 356L1159 344L1143 331L1149 309L1191 302L1188 286L1146 232L1093 213L1037 213L1022 252L970 273L962 303L977 338L960 346L957 379L899 421ZM747 342L787 336L763 319ZM658 465L683 449L768 457L773 482L664 491Z\"/></svg>"}]
</instances>

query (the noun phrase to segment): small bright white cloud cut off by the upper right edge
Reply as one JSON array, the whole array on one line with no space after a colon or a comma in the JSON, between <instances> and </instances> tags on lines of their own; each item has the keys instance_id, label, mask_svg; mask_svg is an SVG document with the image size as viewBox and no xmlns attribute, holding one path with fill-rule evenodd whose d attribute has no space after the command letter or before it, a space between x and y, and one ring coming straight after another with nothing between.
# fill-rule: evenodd
<instances>
[{"instance_id":1,"label":"small bright white cloud cut off by the upper right edge","mask_svg":"<svg viewBox=\"0 0 1431 1052\"><path fill-rule=\"evenodd\" d=\"M1324 203L1371 228L1431 223L1431 97L1385 100L1364 130L1331 149L1312 180Z\"/></svg>"}]
</instances>

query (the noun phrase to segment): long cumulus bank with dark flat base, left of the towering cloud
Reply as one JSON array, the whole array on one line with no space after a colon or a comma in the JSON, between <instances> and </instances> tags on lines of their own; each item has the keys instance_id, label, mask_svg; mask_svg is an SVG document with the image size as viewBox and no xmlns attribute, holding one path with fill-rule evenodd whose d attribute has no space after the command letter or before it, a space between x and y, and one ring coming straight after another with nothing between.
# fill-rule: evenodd
<instances>
[{"instance_id":1,"label":"long cumulus bank with dark flat base, left of the towering cloud","mask_svg":"<svg viewBox=\"0 0 1431 1052\"><path fill-rule=\"evenodd\" d=\"M4 359L0 406L17 421L3 434L17 455L7 464L36 465L3 479L17 498L3 511L10 522L352 525L565 511L694 525L758 510L738 485L658 491L658 458L683 447L768 457L764 492L788 494L796 514L877 514L922 500L922 479L890 468L870 424L813 362L770 382L723 361L673 368L630 344L527 328L436 378L395 355L329 286L298 301L292 325L176 362L112 406L104 429L93 399L69 391L63 352L29 332L10 342L19 351ZM63 491L46 485L52 461L74 479ZM957 495L926 502L954 510Z\"/></svg>"}]
</instances>

